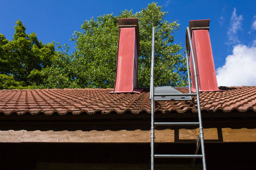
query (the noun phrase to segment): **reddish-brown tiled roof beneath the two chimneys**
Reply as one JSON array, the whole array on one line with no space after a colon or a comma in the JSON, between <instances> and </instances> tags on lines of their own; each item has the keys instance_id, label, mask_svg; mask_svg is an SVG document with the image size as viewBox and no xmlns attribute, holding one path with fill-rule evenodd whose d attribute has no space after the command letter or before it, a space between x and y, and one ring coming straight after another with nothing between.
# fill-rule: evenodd
<instances>
[{"instance_id":1,"label":"reddish-brown tiled roof beneath the two chimneys","mask_svg":"<svg viewBox=\"0 0 256 170\"><path fill-rule=\"evenodd\" d=\"M178 89L188 92L188 89ZM58 113L150 113L147 89L141 94L109 94L113 89L0 90L0 115L51 115ZM227 87L219 92L201 92L202 111L255 111L256 87ZM196 112L196 101L161 101L161 113Z\"/></svg>"}]
</instances>

